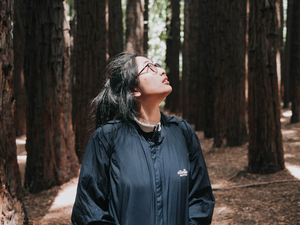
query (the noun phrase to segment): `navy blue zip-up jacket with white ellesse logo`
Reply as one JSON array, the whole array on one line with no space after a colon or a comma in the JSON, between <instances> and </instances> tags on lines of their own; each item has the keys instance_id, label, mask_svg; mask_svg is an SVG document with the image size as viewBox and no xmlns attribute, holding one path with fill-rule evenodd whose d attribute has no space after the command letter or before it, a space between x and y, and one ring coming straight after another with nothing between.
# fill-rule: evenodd
<instances>
[{"instance_id":1,"label":"navy blue zip-up jacket with white ellesse logo","mask_svg":"<svg viewBox=\"0 0 300 225\"><path fill-rule=\"evenodd\" d=\"M210 224L214 203L196 133L184 120L161 114L161 131L151 140L125 121L108 122L94 132L71 220L73 225Z\"/></svg>"}]
</instances>

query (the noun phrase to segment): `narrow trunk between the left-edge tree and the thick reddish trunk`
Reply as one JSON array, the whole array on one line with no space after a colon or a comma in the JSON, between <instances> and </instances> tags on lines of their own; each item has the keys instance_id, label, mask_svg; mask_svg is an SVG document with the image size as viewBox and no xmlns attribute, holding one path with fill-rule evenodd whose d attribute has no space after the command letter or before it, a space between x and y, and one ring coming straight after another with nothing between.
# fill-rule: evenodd
<instances>
[{"instance_id":1,"label":"narrow trunk between the left-edge tree and the thick reddish trunk","mask_svg":"<svg viewBox=\"0 0 300 225\"><path fill-rule=\"evenodd\" d=\"M15 128L16 136L26 134L26 101L24 84L24 48L25 48L25 30L23 18L25 17L24 5L21 0L14 0L14 18L13 18L13 64L15 70Z\"/></svg>"}]
</instances>

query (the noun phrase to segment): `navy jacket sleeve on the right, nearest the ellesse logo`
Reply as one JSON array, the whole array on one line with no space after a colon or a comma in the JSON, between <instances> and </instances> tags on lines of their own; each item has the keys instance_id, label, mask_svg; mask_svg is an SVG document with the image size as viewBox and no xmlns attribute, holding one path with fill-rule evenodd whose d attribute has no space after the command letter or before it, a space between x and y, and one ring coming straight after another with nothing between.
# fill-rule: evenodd
<instances>
[{"instance_id":1,"label":"navy jacket sleeve on the right, nearest the ellesse logo","mask_svg":"<svg viewBox=\"0 0 300 225\"><path fill-rule=\"evenodd\" d=\"M190 159L189 224L211 224L215 199L198 136L184 122Z\"/></svg>"}]
</instances>

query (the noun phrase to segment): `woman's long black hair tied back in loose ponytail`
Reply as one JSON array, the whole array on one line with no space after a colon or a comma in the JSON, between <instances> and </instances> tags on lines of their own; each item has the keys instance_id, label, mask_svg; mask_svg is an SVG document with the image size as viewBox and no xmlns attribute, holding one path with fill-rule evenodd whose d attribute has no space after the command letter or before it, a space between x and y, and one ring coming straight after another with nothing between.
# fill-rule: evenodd
<instances>
[{"instance_id":1,"label":"woman's long black hair tied back in loose ponytail","mask_svg":"<svg viewBox=\"0 0 300 225\"><path fill-rule=\"evenodd\" d=\"M133 96L135 90L140 88L137 56L140 56L138 52L123 52L108 64L108 80L91 103L96 129L110 120L122 118L130 121L140 116L136 110L138 99Z\"/></svg>"}]
</instances>

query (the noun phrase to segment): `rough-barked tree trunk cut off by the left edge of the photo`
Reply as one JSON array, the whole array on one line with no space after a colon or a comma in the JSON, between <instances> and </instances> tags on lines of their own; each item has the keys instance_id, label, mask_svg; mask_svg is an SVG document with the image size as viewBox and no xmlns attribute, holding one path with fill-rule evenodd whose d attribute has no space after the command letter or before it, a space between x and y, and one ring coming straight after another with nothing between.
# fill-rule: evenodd
<instances>
[{"instance_id":1,"label":"rough-barked tree trunk cut off by the left edge of the photo","mask_svg":"<svg viewBox=\"0 0 300 225\"><path fill-rule=\"evenodd\" d=\"M28 224L22 203L21 173L14 128L13 1L1 1L0 20L0 215L1 224Z\"/></svg>"}]
</instances>

